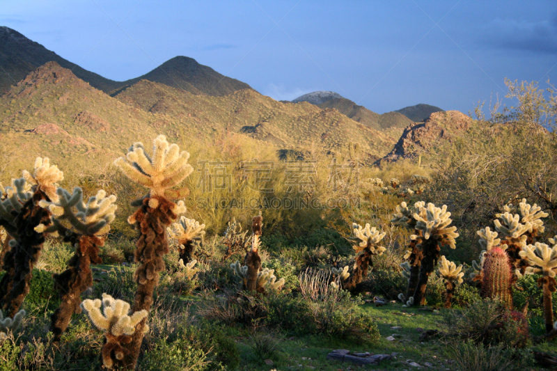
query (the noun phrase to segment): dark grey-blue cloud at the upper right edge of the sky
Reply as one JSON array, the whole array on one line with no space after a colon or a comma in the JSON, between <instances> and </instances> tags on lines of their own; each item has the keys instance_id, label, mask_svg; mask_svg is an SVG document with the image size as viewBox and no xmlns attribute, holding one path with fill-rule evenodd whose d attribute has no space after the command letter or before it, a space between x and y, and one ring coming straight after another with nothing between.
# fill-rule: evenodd
<instances>
[{"instance_id":1,"label":"dark grey-blue cloud at the upper right edge of the sky","mask_svg":"<svg viewBox=\"0 0 557 371\"><path fill-rule=\"evenodd\" d=\"M557 54L557 13L538 22L497 18L484 27L480 38L484 44L499 49Z\"/></svg>"}]
</instances>

